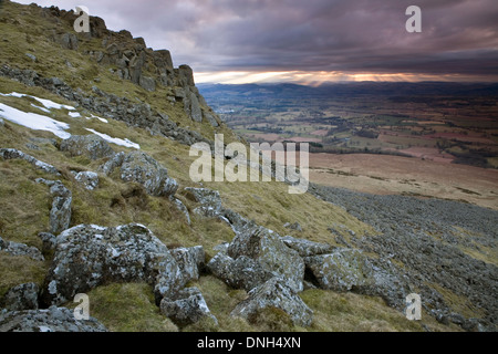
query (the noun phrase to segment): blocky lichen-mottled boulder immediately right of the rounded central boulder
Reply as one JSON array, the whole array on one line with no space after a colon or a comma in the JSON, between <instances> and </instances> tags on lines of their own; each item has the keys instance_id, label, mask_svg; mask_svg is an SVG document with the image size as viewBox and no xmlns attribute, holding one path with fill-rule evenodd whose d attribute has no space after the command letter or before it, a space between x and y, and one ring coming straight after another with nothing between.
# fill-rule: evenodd
<instances>
[{"instance_id":1,"label":"blocky lichen-mottled boulder immediately right of the rounded central boulder","mask_svg":"<svg viewBox=\"0 0 498 354\"><path fill-rule=\"evenodd\" d=\"M322 289L350 291L369 281L369 264L360 250L339 248L330 254L307 257L304 262Z\"/></svg>"}]
</instances>

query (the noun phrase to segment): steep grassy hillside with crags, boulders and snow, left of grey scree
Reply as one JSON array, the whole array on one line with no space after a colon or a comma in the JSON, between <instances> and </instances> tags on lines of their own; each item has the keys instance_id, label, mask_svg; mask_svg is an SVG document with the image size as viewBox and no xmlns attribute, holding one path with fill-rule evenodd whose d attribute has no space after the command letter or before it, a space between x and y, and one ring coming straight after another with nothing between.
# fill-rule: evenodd
<instances>
[{"instance_id":1,"label":"steep grassy hillside with crags, boulders and snow, left of grey scree","mask_svg":"<svg viewBox=\"0 0 498 354\"><path fill-rule=\"evenodd\" d=\"M405 317L404 296L419 289L382 248L360 250L383 230L330 195L291 195L280 181L194 183L194 143L241 139L191 69L98 18L76 34L74 19L0 8L2 306L74 308L84 292L112 331L460 330L447 320L453 304ZM17 300L28 292L27 308ZM480 325L468 317L489 325L488 309L465 310L466 329Z\"/></svg>"}]
</instances>

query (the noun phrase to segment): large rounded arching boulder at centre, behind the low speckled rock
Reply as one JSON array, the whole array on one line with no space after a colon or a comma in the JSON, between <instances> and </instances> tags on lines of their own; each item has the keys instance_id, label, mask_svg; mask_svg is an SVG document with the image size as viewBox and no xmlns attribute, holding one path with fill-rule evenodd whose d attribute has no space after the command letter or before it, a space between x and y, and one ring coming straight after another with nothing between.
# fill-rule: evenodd
<instances>
[{"instance_id":1,"label":"large rounded arching boulder at centre, behind the low speckled rock","mask_svg":"<svg viewBox=\"0 0 498 354\"><path fill-rule=\"evenodd\" d=\"M247 256L267 272L282 278L293 291L303 290L304 261L272 230L263 227L246 228L231 241L228 256L234 259Z\"/></svg>"}]
</instances>

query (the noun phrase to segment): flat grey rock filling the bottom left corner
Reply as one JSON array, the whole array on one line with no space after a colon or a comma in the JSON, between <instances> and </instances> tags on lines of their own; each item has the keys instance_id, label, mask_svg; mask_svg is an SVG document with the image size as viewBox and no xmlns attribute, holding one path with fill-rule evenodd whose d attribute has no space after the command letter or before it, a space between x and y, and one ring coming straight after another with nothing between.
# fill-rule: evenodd
<instances>
[{"instance_id":1,"label":"flat grey rock filling the bottom left corner","mask_svg":"<svg viewBox=\"0 0 498 354\"><path fill-rule=\"evenodd\" d=\"M66 308L46 310L2 311L0 332L107 332L96 319L76 320Z\"/></svg>"}]
</instances>

